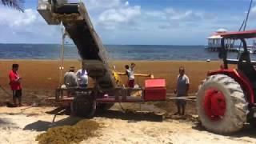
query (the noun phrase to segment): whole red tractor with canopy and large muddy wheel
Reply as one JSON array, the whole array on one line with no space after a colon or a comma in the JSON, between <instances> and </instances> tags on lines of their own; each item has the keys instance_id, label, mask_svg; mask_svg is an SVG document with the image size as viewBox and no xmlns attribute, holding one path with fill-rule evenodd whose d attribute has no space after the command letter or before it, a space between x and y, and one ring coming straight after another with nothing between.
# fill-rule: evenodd
<instances>
[{"instance_id":1,"label":"whole red tractor with canopy and large muddy wheel","mask_svg":"<svg viewBox=\"0 0 256 144\"><path fill-rule=\"evenodd\" d=\"M246 39L255 38L256 30L223 33L219 58L220 70L210 71L199 86L197 109L202 126L218 134L241 130L246 122L256 122L256 62L250 60ZM238 59L228 59L229 40L240 40L243 50ZM229 68L230 64L237 69Z\"/></svg>"}]
</instances>

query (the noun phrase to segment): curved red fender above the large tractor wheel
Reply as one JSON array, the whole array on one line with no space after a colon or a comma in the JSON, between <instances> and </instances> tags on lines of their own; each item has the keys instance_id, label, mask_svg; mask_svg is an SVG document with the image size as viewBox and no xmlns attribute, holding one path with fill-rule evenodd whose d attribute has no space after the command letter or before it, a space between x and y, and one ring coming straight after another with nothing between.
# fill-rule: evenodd
<instances>
[{"instance_id":1,"label":"curved red fender above the large tractor wheel","mask_svg":"<svg viewBox=\"0 0 256 144\"><path fill-rule=\"evenodd\" d=\"M244 74L242 74L241 71L236 70L236 69L214 70L214 71L209 71L207 73L207 76L214 75L214 74L226 74L226 75L230 76L231 78L234 78L234 80L242 86L242 89L244 91L246 91L247 101L250 104L254 104L253 86L252 86L250 80Z\"/></svg>"}]
</instances>

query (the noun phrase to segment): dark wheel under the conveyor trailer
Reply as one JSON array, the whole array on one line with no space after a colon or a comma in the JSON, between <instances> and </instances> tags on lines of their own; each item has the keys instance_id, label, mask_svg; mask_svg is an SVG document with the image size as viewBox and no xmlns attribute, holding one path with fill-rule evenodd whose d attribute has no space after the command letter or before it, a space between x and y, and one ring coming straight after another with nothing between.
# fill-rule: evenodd
<instances>
[{"instance_id":1,"label":"dark wheel under the conveyor trailer","mask_svg":"<svg viewBox=\"0 0 256 144\"><path fill-rule=\"evenodd\" d=\"M72 104L74 115L93 118L96 111L96 100L91 95L78 94Z\"/></svg>"}]
</instances>

